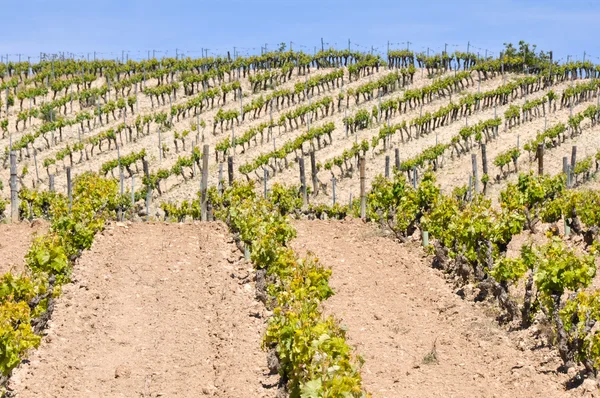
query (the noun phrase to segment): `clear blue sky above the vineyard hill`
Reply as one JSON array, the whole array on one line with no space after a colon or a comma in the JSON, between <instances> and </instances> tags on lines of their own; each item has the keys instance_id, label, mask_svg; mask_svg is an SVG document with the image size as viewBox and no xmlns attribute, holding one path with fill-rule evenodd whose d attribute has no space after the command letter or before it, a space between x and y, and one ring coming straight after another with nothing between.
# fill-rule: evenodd
<instances>
[{"instance_id":1,"label":"clear blue sky above the vineyard hill","mask_svg":"<svg viewBox=\"0 0 600 398\"><path fill-rule=\"evenodd\" d=\"M312 52L325 46L385 52L387 42L403 48L441 51L472 48L499 52L504 42L523 39L538 49L553 50L555 59L567 55L600 63L594 25L600 2L582 0L0 0L0 54L36 57L42 52L73 52L87 57L116 58L130 51L144 58L259 53L267 44L294 43ZM91 56L91 55L90 55Z\"/></svg>"}]
</instances>

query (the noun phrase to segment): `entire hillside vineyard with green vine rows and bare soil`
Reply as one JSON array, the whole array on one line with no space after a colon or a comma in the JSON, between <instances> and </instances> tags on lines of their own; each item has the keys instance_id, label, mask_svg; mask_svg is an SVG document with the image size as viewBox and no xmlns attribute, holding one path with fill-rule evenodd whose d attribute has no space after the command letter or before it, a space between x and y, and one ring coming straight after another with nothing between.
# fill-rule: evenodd
<instances>
[{"instance_id":1,"label":"entire hillside vineyard with green vine rows and bare soil","mask_svg":"<svg viewBox=\"0 0 600 398\"><path fill-rule=\"evenodd\" d=\"M524 42L0 63L5 396L597 396L599 78Z\"/></svg>"}]
</instances>

